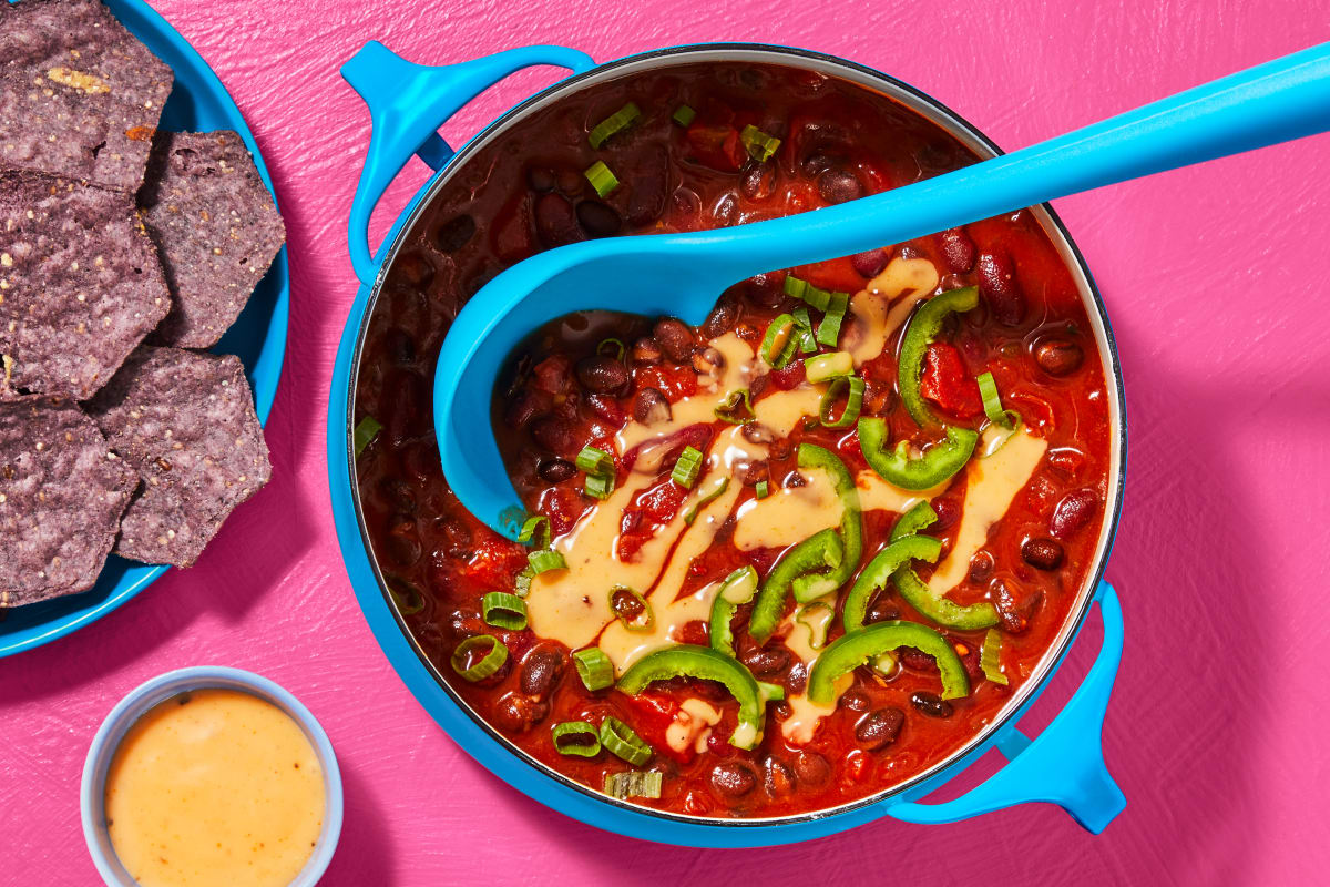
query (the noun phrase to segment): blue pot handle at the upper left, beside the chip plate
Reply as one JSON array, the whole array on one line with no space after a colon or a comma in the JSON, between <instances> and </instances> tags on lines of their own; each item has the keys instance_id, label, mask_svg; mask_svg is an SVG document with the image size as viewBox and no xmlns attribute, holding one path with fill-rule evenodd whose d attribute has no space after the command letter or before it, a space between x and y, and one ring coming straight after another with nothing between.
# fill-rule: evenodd
<instances>
[{"instance_id":1,"label":"blue pot handle at the upper left, beside the chip plate","mask_svg":"<svg viewBox=\"0 0 1330 887\"><path fill-rule=\"evenodd\" d=\"M455 65L418 65L376 40L344 65L342 77L370 106L370 148L351 201L347 247L362 283L374 282L378 255L370 251L370 214L411 154L431 169L452 157L438 129L459 108L508 74L532 65L557 65L581 73L596 63L565 47L520 47ZM382 251L382 245L380 245Z\"/></svg>"}]
</instances>

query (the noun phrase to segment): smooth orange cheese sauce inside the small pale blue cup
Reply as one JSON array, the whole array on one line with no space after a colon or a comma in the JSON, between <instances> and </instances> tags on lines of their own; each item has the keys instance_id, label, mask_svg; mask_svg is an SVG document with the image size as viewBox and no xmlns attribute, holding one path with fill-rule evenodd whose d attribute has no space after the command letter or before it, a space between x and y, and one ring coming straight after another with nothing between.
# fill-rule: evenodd
<instances>
[{"instance_id":1,"label":"smooth orange cheese sauce inside the small pale blue cup","mask_svg":"<svg viewBox=\"0 0 1330 887\"><path fill-rule=\"evenodd\" d=\"M106 777L116 855L142 887L285 887L323 827L299 725L237 690L196 690L130 727Z\"/></svg>"}]
</instances>

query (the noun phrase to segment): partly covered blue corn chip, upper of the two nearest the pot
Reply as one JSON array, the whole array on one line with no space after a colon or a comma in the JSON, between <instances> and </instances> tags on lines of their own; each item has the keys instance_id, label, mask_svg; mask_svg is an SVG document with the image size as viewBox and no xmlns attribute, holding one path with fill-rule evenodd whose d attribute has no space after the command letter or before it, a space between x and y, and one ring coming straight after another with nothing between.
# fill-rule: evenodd
<instances>
[{"instance_id":1,"label":"partly covered blue corn chip, upper of the two nearest the pot","mask_svg":"<svg viewBox=\"0 0 1330 887\"><path fill-rule=\"evenodd\" d=\"M152 342L214 346L286 241L254 160L230 130L158 133L138 202L174 298Z\"/></svg>"}]
</instances>

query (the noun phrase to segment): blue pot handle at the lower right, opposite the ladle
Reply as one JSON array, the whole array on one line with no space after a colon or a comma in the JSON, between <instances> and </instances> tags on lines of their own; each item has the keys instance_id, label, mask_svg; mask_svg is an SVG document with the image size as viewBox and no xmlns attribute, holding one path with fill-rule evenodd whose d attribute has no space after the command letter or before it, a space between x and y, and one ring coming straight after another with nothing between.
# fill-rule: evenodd
<instances>
[{"instance_id":1,"label":"blue pot handle at the lower right, opposite the ladle","mask_svg":"<svg viewBox=\"0 0 1330 887\"><path fill-rule=\"evenodd\" d=\"M1095 593L1104 621L1099 657L1067 706L1033 741L1011 726L998 739L1009 763L983 785L944 803L907 801L887 813L918 823L958 822L1019 803L1056 803L1083 828L1099 834L1127 806L1104 766L1101 733L1108 696L1123 658L1123 608L1108 582Z\"/></svg>"}]
</instances>

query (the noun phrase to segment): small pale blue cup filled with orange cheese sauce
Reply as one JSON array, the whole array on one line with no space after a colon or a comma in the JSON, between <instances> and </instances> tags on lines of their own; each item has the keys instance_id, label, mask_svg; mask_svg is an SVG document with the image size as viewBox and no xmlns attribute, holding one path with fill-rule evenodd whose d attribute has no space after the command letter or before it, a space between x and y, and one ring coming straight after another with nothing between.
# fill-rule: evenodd
<instances>
[{"instance_id":1,"label":"small pale blue cup filled with orange cheese sauce","mask_svg":"<svg viewBox=\"0 0 1330 887\"><path fill-rule=\"evenodd\" d=\"M130 693L84 769L84 832L116 887L313 884L340 831L327 735L290 693L182 669Z\"/></svg>"}]
</instances>

